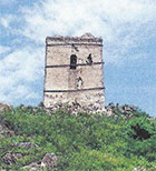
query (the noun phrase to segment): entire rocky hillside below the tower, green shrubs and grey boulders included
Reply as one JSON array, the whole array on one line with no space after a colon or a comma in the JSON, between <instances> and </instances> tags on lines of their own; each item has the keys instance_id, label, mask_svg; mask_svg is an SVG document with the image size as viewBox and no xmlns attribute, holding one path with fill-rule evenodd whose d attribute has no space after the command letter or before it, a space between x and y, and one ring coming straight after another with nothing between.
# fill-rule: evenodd
<instances>
[{"instance_id":1,"label":"entire rocky hillside below the tower, green shrubs and grey boulders included","mask_svg":"<svg viewBox=\"0 0 156 171\"><path fill-rule=\"evenodd\" d=\"M104 118L101 113L94 113L92 115L90 115L90 113L72 113L72 110L67 107L61 107L57 110L58 111L55 113L41 107L20 107L13 109L9 104L0 104L0 147L2 147L0 149L0 171L3 169L10 171L60 171L64 170L62 168L68 167L69 170L72 167L75 168L72 170L77 170L76 165L78 162L82 164L82 162L86 161L86 164L91 165L96 159L91 162L89 160L94 155L98 158L98 154L103 155L106 161L108 160L107 162L109 162L109 165L113 164L113 167L114 162L117 162L117 167L120 167L119 163L123 161L123 165L125 165L126 162L131 164L136 158L127 159L126 155L119 153L118 155L121 158L117 159L117 157L114 157L114 151L118 148L119 151L121 151L128 148L126 145L129 143L128 145L134 145L134 148L128 149L133 153L133 149L137 148L136 144L142 144L147 148L146 141L149 145L148 151L152 150L147 159L154 160L155 154L153 154L153 151L156 150L154 147L155 137L153 135L156 130L155 121L146 117L146 113L138 112L136 107L127 104L120 107L110 103L106 107ZM142 120L145 122L144 127L143 123L139 124ZM150 122L153 124L150 124ZM147 133L147 137L144 137L142 132L143 134ZM129 138L127 138L127 135ZM130 141L134 142L131 143ZM109 147L113 142L114 144ZM143 153L142 151L144 151L143 149L142 149L142 145L139 147L140 155ZM105 152L99 150L101 147L106 149ZM79 149L85 150L82 158ZM110 151L114 149L113 154L108 153L107 155L107 149ZM128 150L125 150L124 153L127 153ZM137 153L139 153L138 149ZM127 155L129 155L129 153ZM111 159L113 163L110 162ZM99 163L105 163L105 160L99 161ZM135 165L134 162L131 170L127 169L126 171L148 171L148 169L145 169L145 165L140 165L142 162L139 159L137 160L137 164ZM56 167L57 164L58 167ZM88 168L90 165L88 165ZM81 165L78 165L78 168ZM129 165L127 165L127 168L128 167Z\"/></svg>"}]
</instances>

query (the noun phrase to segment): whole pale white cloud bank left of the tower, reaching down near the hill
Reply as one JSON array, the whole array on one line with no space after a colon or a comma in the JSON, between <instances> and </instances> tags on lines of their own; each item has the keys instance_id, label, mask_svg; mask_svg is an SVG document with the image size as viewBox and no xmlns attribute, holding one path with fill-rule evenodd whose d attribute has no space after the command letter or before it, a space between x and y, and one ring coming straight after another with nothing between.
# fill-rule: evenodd
<instances>
[{"instance_id":1,"label":"whole pale white cloud bank left of the tower, reaching down near the hill","mask_svg":"<svg viewBox=\"0 0 156 171\"><path fill-rule=\"evenodd\" d=\"M0 101L16 101L39 98L31 83L43 77L43 52L30 47L18 49L0 60Z\"/></svg>"}]
</instances>

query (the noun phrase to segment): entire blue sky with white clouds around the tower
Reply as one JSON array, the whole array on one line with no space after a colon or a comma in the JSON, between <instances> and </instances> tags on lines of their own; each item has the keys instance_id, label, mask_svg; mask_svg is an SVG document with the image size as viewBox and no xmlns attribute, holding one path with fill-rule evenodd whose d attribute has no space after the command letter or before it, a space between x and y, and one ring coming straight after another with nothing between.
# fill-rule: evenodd
<instances>
[{"instance_id":1,"label":"entire blue sky with white clouds around the tower","mask_svg":"<svg viewBox=\"0 0 156 171\"><path fill-rule=\"evenodd\" d=\"M134 104L156 117L156 1L0 0L0 102L42 100L45 39L104 39L106 104Z\"/></svg>"}]
</instances>

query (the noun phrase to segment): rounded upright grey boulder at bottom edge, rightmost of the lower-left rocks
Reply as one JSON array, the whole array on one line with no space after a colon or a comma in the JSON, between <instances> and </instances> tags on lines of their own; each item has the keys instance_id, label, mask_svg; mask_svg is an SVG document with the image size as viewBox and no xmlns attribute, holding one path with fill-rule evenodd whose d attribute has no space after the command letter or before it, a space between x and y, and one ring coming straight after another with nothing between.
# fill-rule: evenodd
<instances>
[{"instance_id":1,"label":"rounded upright grey boulder at bottom edge, rightmost of the lower-left rocks","mask_svg":"<svg viewBox=\"0 0 156 171\"><path fill-rule=\"evenodd\" d=\"M57 155L55 155L53 153L47 153L41 160L41 167L51 171L53 169L53 165L57 163Z\"/></svg>"}]
</instances>

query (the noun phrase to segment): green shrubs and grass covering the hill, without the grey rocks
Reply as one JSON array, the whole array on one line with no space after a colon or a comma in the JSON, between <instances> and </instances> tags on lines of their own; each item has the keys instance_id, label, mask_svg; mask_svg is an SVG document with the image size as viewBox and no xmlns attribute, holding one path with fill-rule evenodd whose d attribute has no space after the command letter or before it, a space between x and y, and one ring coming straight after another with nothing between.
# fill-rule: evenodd
<instances>
[{"instance_id":1,"label":"green shrubs and grass covering the hill, without the grey rocks","mask_svg":"<svg viewBox=\"0 0 156 171\"><path fill-rule=\"evenodd\" d=\"M25 170L52 152L55 171L155 171L156 120L142 111L115 110L111 117L40 107L1 112L1 124L12 133L0 135L0 169ZM25 142L35 145L20 145ZM7 154L19 157L7 163Z\"/></svg>"}]
</instances>

